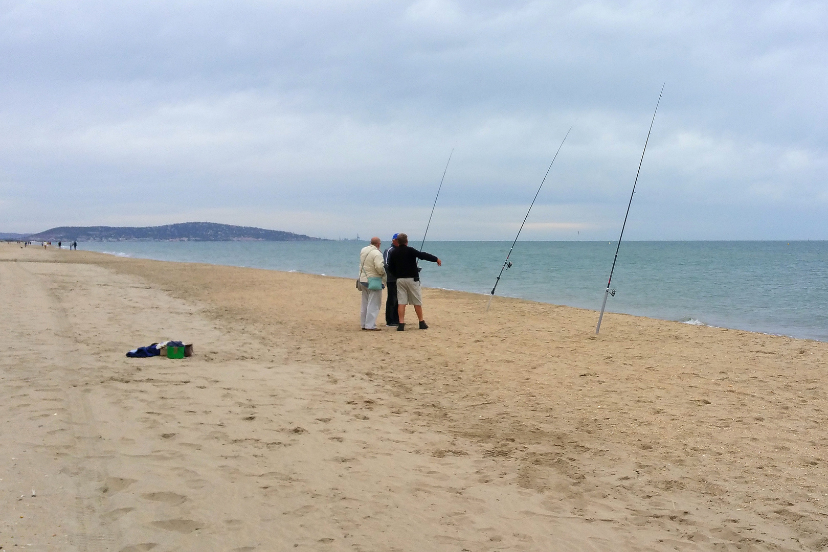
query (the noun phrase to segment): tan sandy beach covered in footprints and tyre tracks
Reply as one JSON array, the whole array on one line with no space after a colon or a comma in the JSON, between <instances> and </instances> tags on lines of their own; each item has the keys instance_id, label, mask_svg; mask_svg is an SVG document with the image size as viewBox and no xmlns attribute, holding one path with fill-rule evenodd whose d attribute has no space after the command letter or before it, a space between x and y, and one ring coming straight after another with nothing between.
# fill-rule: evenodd
<instances>
[{"instance_id":1,"label":"tan sandy beach covered in footprints and tyre tracks","mask_svg":"<svg viewBox=\"0 0 828 552\"><path fill-rule=\"evenodd\" d=\"M349 279L14 243L0 289L3 551L828 550L828 343L445 290L362 332Z\"/></svg>"}]
</instances>

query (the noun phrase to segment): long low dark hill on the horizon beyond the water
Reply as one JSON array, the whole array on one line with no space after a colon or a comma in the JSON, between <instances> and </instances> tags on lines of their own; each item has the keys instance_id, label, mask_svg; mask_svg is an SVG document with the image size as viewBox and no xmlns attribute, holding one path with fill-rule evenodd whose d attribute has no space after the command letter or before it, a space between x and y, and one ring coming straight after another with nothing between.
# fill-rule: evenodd
<instances>
[{"instance_id":1,"label":"long low dark hill on the horizon beyond the water","mask_svg":"<svg viewBox=\"0 0 828 552\"><path fill-rule=\"evenodd\" d=\"M31 234L36 242L301 242L319 240L305 234L218 223L179 223L164 226L60 226Z\"/></svg>"}]
</instances>

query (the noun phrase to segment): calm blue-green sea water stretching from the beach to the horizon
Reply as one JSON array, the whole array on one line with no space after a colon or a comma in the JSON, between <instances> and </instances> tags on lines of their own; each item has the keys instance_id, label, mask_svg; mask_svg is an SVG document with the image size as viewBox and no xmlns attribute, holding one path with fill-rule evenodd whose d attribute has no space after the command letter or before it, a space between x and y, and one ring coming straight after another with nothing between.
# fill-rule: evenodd
<instances>
[{"instance_id":1,"label":"calm blue-green sea water stretching from the beach to the horizon","mask_svg":"<svg viewBox=\"0 0 828 552\"><path fill-rule=\"evenodd\" d=\"M84 242L81 249L356 278L366 242ZM383 242L383 249L390 242ZM419 247L412 241L412 246ZM511 242L427 242L423 286L489 294ZM497 295L599 310L617 242L517 242ZM607 310L828 341L828 242L623 242ZM485 305L488 298L481 297ZM597 316L596 316L597 322ZM531 323L531 322L530 322Z\"/></svg>"}]
</instances>

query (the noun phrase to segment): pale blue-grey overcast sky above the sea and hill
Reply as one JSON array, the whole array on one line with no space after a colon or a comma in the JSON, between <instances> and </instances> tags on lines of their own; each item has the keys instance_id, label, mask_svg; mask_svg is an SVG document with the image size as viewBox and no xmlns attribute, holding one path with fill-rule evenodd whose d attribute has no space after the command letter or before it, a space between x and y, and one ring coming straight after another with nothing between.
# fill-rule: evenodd
<instances>
[{"instance_id":1,"label":"pale blue-grey overcast sky above the sea and hill","mask_svg":"<svg viewBox=\"0 0 828 552\"><path fill-rule=\"evenodd\" d=\"M0 232L828 239L828 2L0 3Z\"/></svg>"}]
</instances>

